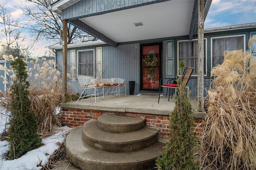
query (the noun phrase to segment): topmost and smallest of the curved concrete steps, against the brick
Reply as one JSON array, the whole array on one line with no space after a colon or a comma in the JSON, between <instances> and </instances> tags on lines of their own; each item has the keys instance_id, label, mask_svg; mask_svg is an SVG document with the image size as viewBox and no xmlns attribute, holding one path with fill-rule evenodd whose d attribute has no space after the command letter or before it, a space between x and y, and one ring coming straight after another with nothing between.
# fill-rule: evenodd
<instances>
[{"instance_id":1,"label":"topmost and smallest of the curved concrete steps, against the brick","mask_svg":"<svg viewBox=\"0 0 256 170\"><path fill-rule=\"evenodd\" d=\"M98 127L110 133L125 133L138 131L145 126L145 119L138 117L124 117L118 115L100 115Z\"/></svg>"}]
</instances>

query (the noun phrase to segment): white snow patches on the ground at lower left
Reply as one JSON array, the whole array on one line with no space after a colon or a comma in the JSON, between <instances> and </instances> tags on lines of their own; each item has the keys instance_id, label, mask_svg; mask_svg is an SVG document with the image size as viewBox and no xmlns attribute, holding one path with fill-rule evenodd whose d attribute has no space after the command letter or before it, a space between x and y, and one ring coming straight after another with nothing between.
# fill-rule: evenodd
<instances>
[{"instance_id":1,"label":"white snow patches on the ground at lower left","mask_svg":"<svg viewBox=\"0 0 256 170\"><path fill-rule=\"evenodd\" d=\"M4 109L0 108L1 111ZM0 113L0 134L5 130L5 124L8 121L6 112ZM46 165L50 156L57 150L65 140L70 127L54 127L55 134L42 139L44 146L27 152L18 159L7 160L4 156L9 150L8 141L0 141L0 170L40 170L42 165ZM40 163L41 162L41 163Z\"/></svg>"}]
</instances>

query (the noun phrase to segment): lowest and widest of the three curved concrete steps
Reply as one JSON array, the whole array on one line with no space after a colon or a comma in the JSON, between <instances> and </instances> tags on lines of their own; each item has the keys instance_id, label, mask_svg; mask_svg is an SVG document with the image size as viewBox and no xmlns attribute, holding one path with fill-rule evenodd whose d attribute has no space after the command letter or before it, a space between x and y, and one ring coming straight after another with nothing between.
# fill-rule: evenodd
<instances>
[{"instance_id":1,"label":"lowest and widest of the three curved concrete steps","mask_svg":"<svg viewBox=\"0 0 256 170\"><path fill-rule=\"evenodd\" d=\"M155 160L162 155L164 143L136 152L106 152L93 149L82 139L83 127L70 131L66 137L66 155L73 164L83 170L150 170Z\"/></svg>"}]
</instances>

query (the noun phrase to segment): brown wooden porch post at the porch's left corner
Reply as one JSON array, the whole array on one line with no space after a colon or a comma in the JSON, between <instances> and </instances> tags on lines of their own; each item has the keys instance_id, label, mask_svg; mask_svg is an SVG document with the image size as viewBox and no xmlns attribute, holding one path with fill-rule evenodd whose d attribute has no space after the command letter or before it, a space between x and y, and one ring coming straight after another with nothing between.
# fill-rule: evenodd
<instances>
[{"instance_id":1,"label":"brown wooden porch post at the porch's left corner","mask_svg":"<svg viewBox=\"0 0 256 170\"><path fill-rule=\"evenodd\" d=\"M62 102L67 96L67 61L68 61L68 21L62 21Z\"/></svg>"}]
</instances>

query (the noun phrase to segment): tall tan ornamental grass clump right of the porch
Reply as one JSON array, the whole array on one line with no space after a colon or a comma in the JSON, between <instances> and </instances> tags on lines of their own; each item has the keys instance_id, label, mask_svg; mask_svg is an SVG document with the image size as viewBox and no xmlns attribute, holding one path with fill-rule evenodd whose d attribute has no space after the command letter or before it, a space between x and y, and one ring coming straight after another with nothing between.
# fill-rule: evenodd
<instances>
[{"instance_id":1,"label":"tall tan ornamental grass clump right of the porch","mask_svg":"<svg viewBox=\"0 0 256 170\"><path fill-rule=\"evenodd\" d=\"M235 50L225 52L223 64L212 69L208 113L202 122L201 170L256 169L255 68L249 51Z\"/></svg>"}]
</instances>

